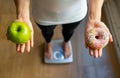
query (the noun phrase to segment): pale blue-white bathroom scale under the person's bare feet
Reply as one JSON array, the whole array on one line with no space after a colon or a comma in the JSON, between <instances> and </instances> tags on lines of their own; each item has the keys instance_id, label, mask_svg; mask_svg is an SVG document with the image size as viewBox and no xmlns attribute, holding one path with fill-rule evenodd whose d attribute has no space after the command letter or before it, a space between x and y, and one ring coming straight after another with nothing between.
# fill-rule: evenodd
<instances>
[{"instance_id":1,"label":"pale blue-white bathroom scale under the person's bare feet","mask_svg":"<svg viewBox=\"0 0 120 78\"><path fill-rule=\"evenodd\" d=\"M69 45L70 45L70 49L71 49L70 50L71 55L68 58L64 58L64 52L63 52L63 49L62 49L62 44L63 44L63 40L52 40L53 58L48 59L48 58L44 57L45 63L60 64L60 63L71 63L73 61L71 41L69 41Z\"/></svg>"}]
</instances>

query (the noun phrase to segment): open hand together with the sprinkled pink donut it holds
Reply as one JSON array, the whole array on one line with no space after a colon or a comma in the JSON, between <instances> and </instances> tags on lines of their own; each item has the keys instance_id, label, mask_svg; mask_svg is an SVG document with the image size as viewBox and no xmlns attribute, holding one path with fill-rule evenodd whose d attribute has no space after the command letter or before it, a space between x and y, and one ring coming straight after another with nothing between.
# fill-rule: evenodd
<instances>
[{"instance_id":1,"label":"open hand together with the sprinkled pink donut it holds","mask_svg":"<svg viewBox=\"0 0 120 78\"><path fill-rule=\"evenodd\" d=\"M102 49L112 42L112 35L107 26L99 21L89 21L85 29L85 45L89 54L95 58L102 56Z\"/></svg>"}]
</instances>

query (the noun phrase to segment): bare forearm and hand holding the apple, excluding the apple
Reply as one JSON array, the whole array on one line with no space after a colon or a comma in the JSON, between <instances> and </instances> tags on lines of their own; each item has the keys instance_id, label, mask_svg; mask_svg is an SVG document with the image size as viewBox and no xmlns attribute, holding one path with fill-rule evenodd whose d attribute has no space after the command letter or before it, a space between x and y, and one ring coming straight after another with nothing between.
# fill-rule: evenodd
<instances>
[{"instance_id":1,"label":"bare forearm and hand holding the apple, excluding the apple","mask_svg":"<svg viewBox=\"0 0 120 78\"><path fill-rule=\"evenodd\" d=\"M30 0L14 0L15 7L16 7L16 20L17 22L24 22L26 23L31 31L30 39L25 43L16 43L16 51L20 53L30 52L30 48L33 47L33 35L34 30L32 27L32 23L30 21ZM21 30L21 29L20 29ZM20 31L18 29L18 31ZM22 37L21 37L22 38ZM24 37L25 38L25 37Z\"/></svg>"}]
</instances>

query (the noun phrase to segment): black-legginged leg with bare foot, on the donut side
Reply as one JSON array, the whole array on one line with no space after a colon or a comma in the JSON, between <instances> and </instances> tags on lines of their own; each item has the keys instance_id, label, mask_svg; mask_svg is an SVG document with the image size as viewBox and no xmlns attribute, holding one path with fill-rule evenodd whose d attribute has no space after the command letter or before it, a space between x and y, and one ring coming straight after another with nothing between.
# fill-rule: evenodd
<instances>
[{"instance_id":1,"label":"black-legginged leg with bare foot, on the donut side","mask_svg":"<svg viewBox=\"0 0 120 78\"><path fill-rule=\"evenodd\" d=\"M74 30L79 26L79 22L75 23L70 23L70 24L63 24L63 29L62 29L62 34L64 37L64 43L63 43L63 49L64 49L64 55L65 58L68 58L71 53L70 53L70 46L68 45L68 41L71 39Z\"/></svg>"}]
</instances>

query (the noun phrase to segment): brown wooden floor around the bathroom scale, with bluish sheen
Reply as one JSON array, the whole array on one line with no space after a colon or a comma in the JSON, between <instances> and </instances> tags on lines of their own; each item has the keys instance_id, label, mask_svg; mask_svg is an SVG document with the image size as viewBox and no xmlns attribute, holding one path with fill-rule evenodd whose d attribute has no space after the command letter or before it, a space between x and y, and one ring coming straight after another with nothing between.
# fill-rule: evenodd
<instances>
[{"instance_id":1,"label":"brown wooden floor around the bathroom scale, with bluish sheen","mask_svg":"<svg viewBox=\"0 0 120 78\"><path fill-rule=\"evenodd\" d=\"M6 38L7 27L15 16L13 0L0 0L0 78L120 78L120 64L113 43L103 49L100 59L89 56L83 35L86 19L71 39L73 63L54 65L43 62L44 39L33 21L34 47L30 53L16 52L16 45ZM60 32L61 26L58 26L53 39L62 39Z\"/></svg>"}]
</instances>

